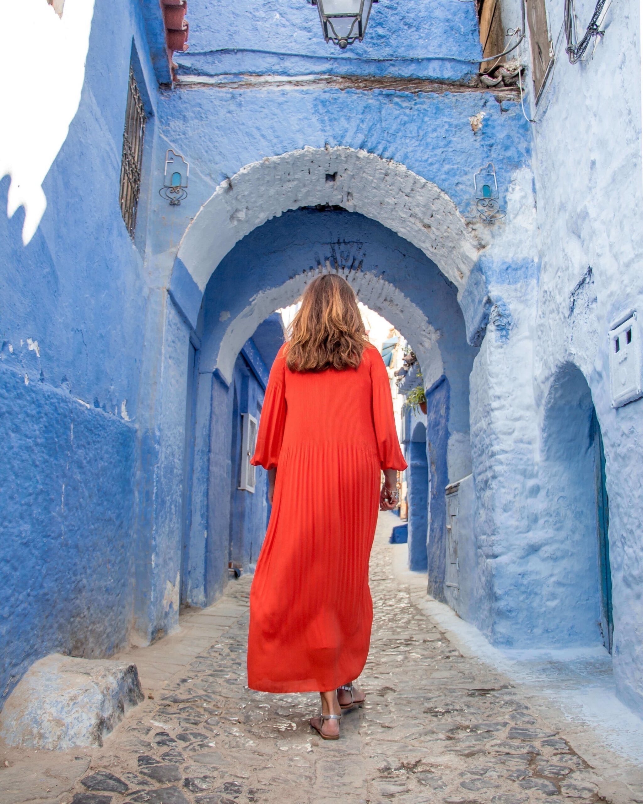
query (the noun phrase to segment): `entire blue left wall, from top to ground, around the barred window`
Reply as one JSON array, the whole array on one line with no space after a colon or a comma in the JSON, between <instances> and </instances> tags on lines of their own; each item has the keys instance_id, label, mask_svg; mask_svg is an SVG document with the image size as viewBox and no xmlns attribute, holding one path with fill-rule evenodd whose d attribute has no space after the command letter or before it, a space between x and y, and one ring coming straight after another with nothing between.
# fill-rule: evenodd
<instances>
[{"instance_id":1,"label":"entire blue left wall, from top to ground, around the barred window","mask_svg":"<svg viewBox=\"0 0 643 804\"><path fill-rule=\"evenodd\" d=\"M138 6L96 3L80 106L43 183L39 228L23 245L23 208L0 215L0 703L35 659L109 655L131 623L147 297L145 203L133 244L118 199L133 39L154 114ZM153 149L150 117L148 162Z\"/></svg>"}]
</instances>

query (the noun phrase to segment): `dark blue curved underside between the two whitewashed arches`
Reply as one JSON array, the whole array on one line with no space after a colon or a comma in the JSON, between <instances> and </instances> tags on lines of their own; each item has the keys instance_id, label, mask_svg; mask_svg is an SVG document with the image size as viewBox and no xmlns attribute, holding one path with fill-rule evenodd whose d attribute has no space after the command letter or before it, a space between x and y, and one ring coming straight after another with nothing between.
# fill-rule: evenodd
<instances>
[{"instance_id":1,"label":"dark blue curved underside between the two whitewashed arches","mask_svg":"<svg viewBox=\"0 0 643 804\"><path fill-rule=\"evenodd\" d=\"M212 364L228 326L252 297L327 260L380 277L412 301L441 336L444 371L452 378L454 395L468 399L477 349L466 342L455 287L420 249L382 224L347 211L286 212L254 229L228 252L203 296L204 364ZM386 310L380 312L386 315ZM417 333L407 330L403 335L413 343ZM453 428L468 430L468 405L456 415Z\"/></svg>"}]
</instances>

